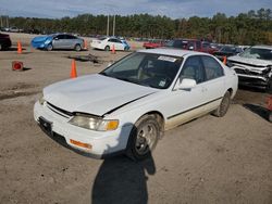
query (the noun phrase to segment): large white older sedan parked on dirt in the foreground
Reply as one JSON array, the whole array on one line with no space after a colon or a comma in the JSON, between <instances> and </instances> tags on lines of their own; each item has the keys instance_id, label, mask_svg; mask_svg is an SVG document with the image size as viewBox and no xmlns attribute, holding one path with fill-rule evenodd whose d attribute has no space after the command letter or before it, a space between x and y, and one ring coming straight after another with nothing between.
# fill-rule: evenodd
<instances>
[{"instance_id":1,"label":"large white older sedan parked on dirt in the foreground","mask_svg":"<svg viewBox=\"0 0 272 204\"><path fill-rule=\"evenodd\" d=\"M101 73L46 87L34 117L48 135L94 157L123 152L143 160L165 130L208 113L224 116L237 82L210 54L140 50Z\"/></svg>"}]
</instances>

